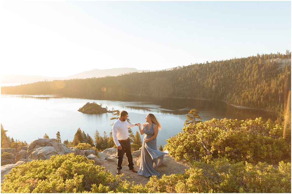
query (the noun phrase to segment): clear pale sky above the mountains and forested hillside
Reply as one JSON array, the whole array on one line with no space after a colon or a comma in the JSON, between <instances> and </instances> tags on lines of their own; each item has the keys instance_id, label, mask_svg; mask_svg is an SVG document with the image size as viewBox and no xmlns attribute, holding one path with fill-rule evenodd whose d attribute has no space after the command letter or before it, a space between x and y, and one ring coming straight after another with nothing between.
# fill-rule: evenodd
<instances>
[{"instance_id":1,"label":"clear pale sky above the mountains and forested hillside","mask_svg":"<svg viewBox=\"0 0 292 194\"><path fill-rule=\"evenodd\" d=\"M1 75L159 70L291 51L291 1L0 3Z\"/></svg>"}]
</instances>

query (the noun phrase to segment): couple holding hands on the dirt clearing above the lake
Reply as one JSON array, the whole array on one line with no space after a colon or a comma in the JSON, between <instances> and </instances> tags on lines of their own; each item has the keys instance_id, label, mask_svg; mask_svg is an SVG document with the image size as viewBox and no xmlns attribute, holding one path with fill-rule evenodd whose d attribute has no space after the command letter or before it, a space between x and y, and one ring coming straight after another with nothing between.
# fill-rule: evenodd
<instances>
[{"instance_id":1,"label":"couple holding hands on the dirt clearing above the lake","mask_svg":"<svg viewBox=\"0 0 292 194\"><path fill-rule=\"evenodd\" d=\"M151 113L145 118L146 123L142 125L142 128L140 123L128 123L127 118L128 113L126 111L121 111L119 119L114 122L112 126L112 137L118 148L117 174L121 173L123 157L124 153L126 153L129 170L145 177L153 175L159 176L159 173L154 169L161 164L164 154L167 154L157 150L156 137L158 130L161 129L160 123ZM128 127L134 126L139 127L141 135L145 134L142 142L139 171L134 168L133 157L131 154L131 142L128 135Z\"/></svg>"}]
</instances>

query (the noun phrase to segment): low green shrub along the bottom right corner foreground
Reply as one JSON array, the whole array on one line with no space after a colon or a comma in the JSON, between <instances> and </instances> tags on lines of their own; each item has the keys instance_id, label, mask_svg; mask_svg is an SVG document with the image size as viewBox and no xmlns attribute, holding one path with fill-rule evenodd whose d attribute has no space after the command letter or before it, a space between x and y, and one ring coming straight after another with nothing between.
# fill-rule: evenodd
<instances>
[{"instance_id":1,"label":"low green shrub along the bottom right corner foreground","mask_svg":"<svg viewBox=\"0 0 292 194\"><path fill-rule=\"evenodd\" d=\"M145 188L154 193L291 193L291 163L281 161L275 169L226 158L194 162L183 174L151 177Z\"/></svg>"}]
</instances>

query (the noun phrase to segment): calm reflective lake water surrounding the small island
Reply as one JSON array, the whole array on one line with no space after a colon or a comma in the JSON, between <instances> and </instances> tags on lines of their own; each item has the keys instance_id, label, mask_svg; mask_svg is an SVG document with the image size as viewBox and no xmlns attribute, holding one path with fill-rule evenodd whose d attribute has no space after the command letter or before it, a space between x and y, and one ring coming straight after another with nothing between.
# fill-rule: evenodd
<instances>
[{"instance_id":1,"label":"calm reflective lake water surrounding the small island","mask_svg":"<svg viewBox=\"0 0 292 194\"><path fill-rule=\"evenodd\" d=\"M107 106L109 110L126 110L130 122L145 123L148 113L156 115L161 123L157 145L164 146L166 139L178 134L183 128L186 114L191 108L199 111L202 121L212 118L255 119L262 117L277 119L277 115L267 111L240 109L227 105L225 102L215 102L195 99L153 98L129 95L3 95L1 94L1 123L6 134L15 139L30 143L42 138L46 133L50 138L56 138L60 131L62 142L72 141L77 129L88 133L92 138L97 129L100 135L105 131L109 136L113 113L84 114L77 110L87 102ZM131 128L134 135L138 127ZM141 139L144 137L141 136Z\"/></svg>"}]
</instances>

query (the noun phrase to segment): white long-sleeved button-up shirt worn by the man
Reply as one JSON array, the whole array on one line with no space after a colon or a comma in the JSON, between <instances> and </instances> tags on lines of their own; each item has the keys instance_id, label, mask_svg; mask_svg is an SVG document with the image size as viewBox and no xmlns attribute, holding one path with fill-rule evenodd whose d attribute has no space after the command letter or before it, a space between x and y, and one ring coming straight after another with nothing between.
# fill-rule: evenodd
<instances>
[{"instance_id":1,"label":"white long-sleeved button-up shirt worn by the man","mask_svg":"<svg viewBox=\"0 0 292 194\"><path fill-rule=\"evenodd\" d=\"M129 138L128 127L134 127L135 123L128 123L127 120L121 121L117 120L112 125L112 138L114 139L114 143L119 147L121 144L118 140L126 140Z\"/></svg>"}]
</instances>

